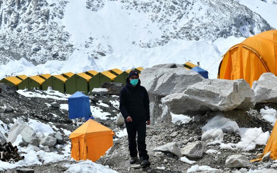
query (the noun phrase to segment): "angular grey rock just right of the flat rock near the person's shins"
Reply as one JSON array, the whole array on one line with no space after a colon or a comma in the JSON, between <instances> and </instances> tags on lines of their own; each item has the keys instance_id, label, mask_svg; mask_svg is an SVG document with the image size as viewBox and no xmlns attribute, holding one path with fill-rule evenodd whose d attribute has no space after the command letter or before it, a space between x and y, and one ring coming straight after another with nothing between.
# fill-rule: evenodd
<instances>
[{"instance_id":1,"label":"angular grey rock just right of the flat rock near the person's shins","mask_svg":"<svg viewBox=\"0 0 277 173\"><path fill-rule=\"evenodd\" d=\"M181 148L181 154L192 158L201 158L203 155L201 146L200 141L190 142L184 148Z\"/></svg>"}]
</instances>

